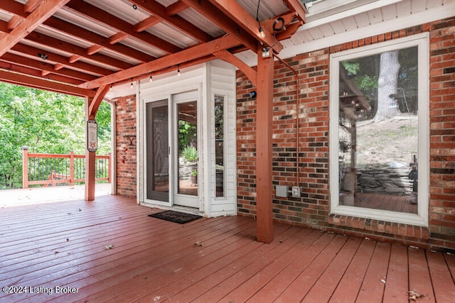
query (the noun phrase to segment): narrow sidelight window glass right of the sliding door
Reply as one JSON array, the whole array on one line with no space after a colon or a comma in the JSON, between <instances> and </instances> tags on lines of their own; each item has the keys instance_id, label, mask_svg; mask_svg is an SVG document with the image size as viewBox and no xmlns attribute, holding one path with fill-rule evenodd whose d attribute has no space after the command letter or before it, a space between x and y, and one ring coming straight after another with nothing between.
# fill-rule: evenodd
<instances>
[{"instance_id":1,"label":"narrow sidelight window glass right of the sliding door","mask_svg":"<svg viewBox=\"0 0 455 303\"><path fill-rule=\"evenodd\" d=\"M216 197L225 196L225 97L215 96L215 178Z\"/></svg>"}]
</instances>

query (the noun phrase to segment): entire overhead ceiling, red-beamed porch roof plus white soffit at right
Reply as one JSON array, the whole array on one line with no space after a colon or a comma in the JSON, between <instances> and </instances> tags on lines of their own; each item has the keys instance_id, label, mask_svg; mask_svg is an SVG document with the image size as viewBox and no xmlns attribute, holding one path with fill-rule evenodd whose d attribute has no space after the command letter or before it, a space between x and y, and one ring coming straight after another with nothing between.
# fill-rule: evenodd
<instances>
[{"instance_id":1,"label":"entire overhead ceiling, red-beamed porch roof plus white soffit at right","mask_svg":"<svg viewBox=\"0 0 455 303\"><path fill-rule=\"evenodd\" d=\"M291 57L454 11L455 0L2 0L0 81L81 97L112 85L116 97L217 57L255 66L260 48Z\"/></svg>"}]
</instances>

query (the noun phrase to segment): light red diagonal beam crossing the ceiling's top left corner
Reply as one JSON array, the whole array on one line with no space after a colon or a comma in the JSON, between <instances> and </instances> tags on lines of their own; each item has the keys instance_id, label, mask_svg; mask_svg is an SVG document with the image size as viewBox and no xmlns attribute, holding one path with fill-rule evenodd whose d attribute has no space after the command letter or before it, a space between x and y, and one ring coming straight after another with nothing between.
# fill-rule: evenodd
<instances>
[{"instance_id":1,"label":"light red diagonal beam crossing the ceiling's top left corner","mask_svg":"<svg viewBox=\"0 0 455 303\"><path fill-rule=\"evenodd\" d=\"M21 41L28 33L34 31L47 18L58 11L70 0L48 0L36 8L27 18L22 21L11 33L0 38L0 56L4 55L16 43Z\"/></svg>"}]
</instances>

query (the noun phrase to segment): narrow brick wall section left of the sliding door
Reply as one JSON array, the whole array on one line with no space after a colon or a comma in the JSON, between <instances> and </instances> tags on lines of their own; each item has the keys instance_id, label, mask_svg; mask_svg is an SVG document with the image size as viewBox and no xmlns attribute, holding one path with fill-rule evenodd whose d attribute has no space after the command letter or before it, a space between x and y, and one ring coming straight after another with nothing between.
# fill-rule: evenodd
<instances>
[{"instance_id":1,"label":"narrow brick wall section left of the sliding door","mask_svg":"<svg viewBox=\"0 0 455 303\"><path fill-rule=\"evenodd\" d=\"M136 136L136 96L120 97L117 104L117 194L136 197L137 145L125 135Z\"/></svg>"}]
</instances>

